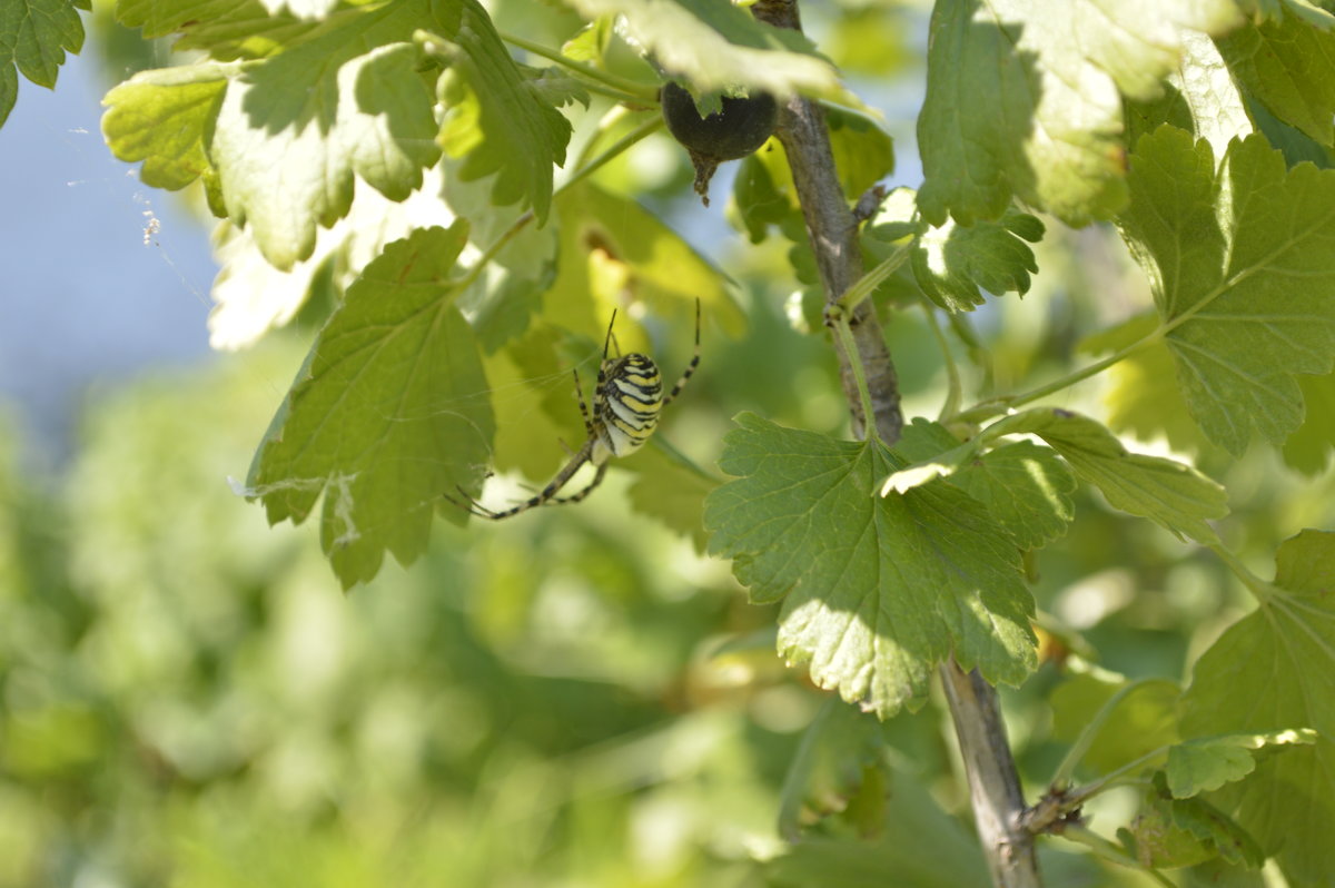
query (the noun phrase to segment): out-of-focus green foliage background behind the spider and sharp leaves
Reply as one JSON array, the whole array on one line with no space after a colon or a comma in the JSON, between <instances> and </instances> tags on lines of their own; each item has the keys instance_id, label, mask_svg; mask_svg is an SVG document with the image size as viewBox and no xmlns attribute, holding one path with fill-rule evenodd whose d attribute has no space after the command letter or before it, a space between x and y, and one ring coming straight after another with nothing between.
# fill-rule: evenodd
<instances>
[{"instance_id":1,"label":"out-of-focus green foliage background behind the spider and sharp leaves","mask_svg":"<svg viewBox=\"0 0 1335 888\"><path fill-rule=\"evenodd\" d=\"M549 15L558 41L566 21ZM917 184L922 11L846 0L804 15L870 104L902 104L917 84L890 123L898 180ZM144 52L104 11L91 33L117 79ZM748 327L708 331L663 434L712 466L740 410L842 431L834 362L790 306L785 250L701 211L665 139L605 184L696 243L726 244L714 254ZM1085 334L1148 304L1111 230L1049 226L1039 263L1023 302L971 316L991 351L973 391L1057 375L1084 359ZM0 418L0 888L984 884L944 708L876 728L884 748L861 779L794 784L828 694L777 661L773 613L746 604L726 564L634 511L629 473L577 507L437 522L426 560L342 596L314 529L268 527L227 481L244 475L310 335L298 324L191 373L96 389L56 474L31 473L23 430ZM889 335L906 413L934 415L945 371L930 328L894 311ZM1117 373L1061 406L1107 415ZM1335 518L1328 471L1298 477L1260 447L1193 455L1231 491L1220 531L1262 576L1279 541ZM1072 649L1181 680L1248 606L1208 553L1088 491L1033 576L1048 660L1004 693L1031 791L1068 740L1049 696ZM780 813L793 804L808 840L789 849ZM1101 797L1095 828L1129 804ZM854 840L865 853L832 851ZM1044 855L1053 885L1148 884L1060 840Z\"/></svg>"}]
</instances>

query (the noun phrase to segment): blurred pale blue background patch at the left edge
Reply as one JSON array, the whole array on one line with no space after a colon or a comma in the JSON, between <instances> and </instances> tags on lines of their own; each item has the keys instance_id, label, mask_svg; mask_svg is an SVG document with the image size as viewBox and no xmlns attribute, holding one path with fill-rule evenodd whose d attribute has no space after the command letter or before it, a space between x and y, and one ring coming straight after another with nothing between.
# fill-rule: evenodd
<instances>
[{"instance_id":1,"label":"blurred pale blue background patch at the left edge","mask_svg":"<svg viewBox=\"0 0 1335 888\"><path fill-rule=\"evenodd\" d=\"M88 394L207 358L216 266L178 198L111 156L92 59L69 56L55 91L19 83L0 127L0 413L49 466Z\"/></svg>"}]
</instances>

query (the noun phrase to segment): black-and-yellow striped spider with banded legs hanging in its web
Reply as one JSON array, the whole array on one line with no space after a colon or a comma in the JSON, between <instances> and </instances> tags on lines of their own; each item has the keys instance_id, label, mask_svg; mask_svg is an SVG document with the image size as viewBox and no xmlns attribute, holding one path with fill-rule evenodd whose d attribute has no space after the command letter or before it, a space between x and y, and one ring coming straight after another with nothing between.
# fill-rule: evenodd
<instances>
[{"instance_id":1,"label":"black-and-yellow striped spider with banded legs hanging in its web","mask_svg":"<svg viewBox=\"0 0 1335 888\"><path fill-rule=\"evenodd\" d=\"M658 427L658 414L686 387L696 367L700 366L700 299L696 300L696 353L681 379L666 395L662 394L662 377L658 366L649 355L631 353L619 358L609 358L607 349L613 342L611 327L617 323L613 310L607 323L607 335L602 342L602 363L598 366L598 385L593 390L593 411L585 405L583 387L579 385L579 371L574 371L575 395L579 398L579 414L583 417L585 443L571 457L570 462L557 473L546 487L533 499L503 511L493 511L469 497L462 489L463 502L446 497L479 518L501 521L543 505L579 502L593 489L602 483L611 457L625 457L639 449ZM593 463L598 471L589 486L569 497L557 493L569 483L586 463Z\"/></svg>"}]
</instances>

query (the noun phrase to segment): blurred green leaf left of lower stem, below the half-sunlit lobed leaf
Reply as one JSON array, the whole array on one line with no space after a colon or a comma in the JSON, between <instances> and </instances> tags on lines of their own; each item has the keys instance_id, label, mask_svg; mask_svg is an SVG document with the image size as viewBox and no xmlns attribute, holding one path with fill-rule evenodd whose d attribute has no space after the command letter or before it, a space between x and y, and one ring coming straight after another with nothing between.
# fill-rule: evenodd
<instances>
[{"instance_id":1,"label":"blurred green leaf left of lower stem, below the half-sunlit lobed leaf","mask_svg":"<svg viewBox=\"0 0 1335 888\"><path fill-rule=\"evenodd\" d=\"M778 832L789 841L821 817L844 811L865 769L885 754L881 722L830 697L802 732L780 795Z\"/></svg>"}]
</instances>

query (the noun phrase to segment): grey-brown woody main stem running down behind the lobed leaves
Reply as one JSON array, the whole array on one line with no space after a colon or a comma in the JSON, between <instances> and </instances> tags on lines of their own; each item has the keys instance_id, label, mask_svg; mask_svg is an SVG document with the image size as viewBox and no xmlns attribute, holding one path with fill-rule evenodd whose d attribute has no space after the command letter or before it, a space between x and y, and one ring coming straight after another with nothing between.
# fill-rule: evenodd
<instances>
[{"instance_id":1,"label":"grey-brown woody main stem running down behind the lobed leaves","mask_svg":"<svg viewBox=\"0 0 1335 888\"><path fill-rule=\"evenodd\" d=\"M774 27L801 29L797 0L757 0L752 12ZM780 109L777 135L793 171L806 235L825 286L825 302L842 308L844 292L862 276L862 251L857 242L857 220L848 208L834 170L825 115L816 103L793 96ZM860 374L853 369L857 361L870 395L876 433L893 445L904 427L904 415L894 363L872 300L858 300L848 323L856 354L849 354L846 338L836 342L853 431L866 437L866 417L857 385ZM1020 828L1024 796L997 709L996 690L976 670L965 673L953 660L941 664L940 669L992 880L997 888L1039 888L1033 837Z\"/></svg>"}]
</instances>

